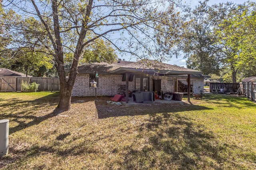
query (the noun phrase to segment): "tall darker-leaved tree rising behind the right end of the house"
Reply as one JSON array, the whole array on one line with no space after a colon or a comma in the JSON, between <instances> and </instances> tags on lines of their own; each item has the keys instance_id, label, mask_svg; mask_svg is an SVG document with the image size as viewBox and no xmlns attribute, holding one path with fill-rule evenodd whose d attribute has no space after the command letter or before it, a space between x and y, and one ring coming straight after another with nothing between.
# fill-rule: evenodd
<instances>
[{"instance_id":1,"label":"tall darker-leaved tree rising behind the right end of the house","mask_svg":"<svg viewBox=\"0 0 256 170\"><path fill-rule=\"evenodd\" d=\"M218 73L221 67L222 49L216 45L218 41L213 32L226 14L232 9L231 3L207 5L208 0L200 2L194 10L188 9L185 18L187 29L183 43L179 48L188 57L188 68L202 71L203 74Z\"/></svg>"}]
</instances>

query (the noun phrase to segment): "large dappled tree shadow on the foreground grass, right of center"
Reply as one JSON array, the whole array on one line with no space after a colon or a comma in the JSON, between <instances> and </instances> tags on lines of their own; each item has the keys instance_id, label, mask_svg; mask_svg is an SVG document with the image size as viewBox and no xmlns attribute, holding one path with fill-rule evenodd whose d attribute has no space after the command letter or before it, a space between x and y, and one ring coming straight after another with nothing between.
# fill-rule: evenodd
<instances>
[{"instance_id":1,"label":"large dappled tree shadow on the foreground grass, right of center","mask_svg":"<svg viewBox=\"0 0 256 170\"><path fill-rule=\"evenodd\" d=\"M206 127L198 128L180 114L151 115L137 137L146 137L148 143L142 149L126 148L124 169L222 169L225 164L245 168L222 154L237 146L219 144Z\"/></svg>"}]
</instances>

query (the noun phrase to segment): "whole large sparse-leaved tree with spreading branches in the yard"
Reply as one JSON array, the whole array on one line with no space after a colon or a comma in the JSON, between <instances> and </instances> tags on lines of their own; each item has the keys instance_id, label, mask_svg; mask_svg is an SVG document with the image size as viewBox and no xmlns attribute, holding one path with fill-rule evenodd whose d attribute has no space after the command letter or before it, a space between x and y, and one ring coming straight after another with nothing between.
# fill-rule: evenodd
<instances>
[{"instance_id":1,"label":"whole large sparse-leaved tree with spreading branches in the yard","mask_svg":"<svg viewBox=\"0 0 256 170\"><path fill-rule=\"evenodd\" d=\"M141 58L157 56L168 50L156 43L153 31L162 31L158 28L160 23L171 25L176 21L176 18L172 18L176 16L173 2L176 1L7 0L10 4L8 8L24 13L22 18L29 16L38 21L37 27L33 27L35 30L28 33L33 33L35 37L31 44L45 47L54 59L60 77L60 102L57 111L70 109L78 64L86 54L86 49L90 49L96 40L104 39L118 51ZM72 54L68 80L64 63L66 54Z\"/></svg>"}]
</instances>

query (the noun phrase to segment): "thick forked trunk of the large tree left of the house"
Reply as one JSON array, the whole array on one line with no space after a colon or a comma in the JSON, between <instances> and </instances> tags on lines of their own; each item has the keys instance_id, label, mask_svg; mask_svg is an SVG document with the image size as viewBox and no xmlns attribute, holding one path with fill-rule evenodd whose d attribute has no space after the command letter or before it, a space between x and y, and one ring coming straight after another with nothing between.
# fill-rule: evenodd
<instances>
[{"instance_id":1,"label":"thick forked trunk of the large tree left of the house","mask_svg":"<svg viewBox=\"0 0 256 170\"><path fill-rule=\"evenodd\" d=\"M89 16L91 14L93 0L89 0L88 6L86 7L86 16L82 21L82 27L81 27L80 35L76 45L73 63L70 68L70 76L68 78L68 81L66 81L66 74L65 74L65 68L64 68L64 53L62 49L63 45L62 45L62 37L61 37L60 22L59 22L58 0L52 0L54 34L52 34L52 28L48 25L46 21L44 21L44 18L40 14L40 10L38 10L38 7L36 6L36 2L34 0L31 0L31 2L34 5L34 8L37 12L38 17L42 21L42 24L46 28L49 39L52 42L53 49L54 49L55 67L60 76L60 102L58 104L58 107L55 109L55 111L57 111L58 113L67 111L71 108L71 94L72 94L74 82L76 80L77 66L83 55L82 52L83 52L84 46L86 45L84 43L84 39L86 37L86 33L88 30L87 23L90 18Z\"/></svg>"}]
</instances>

